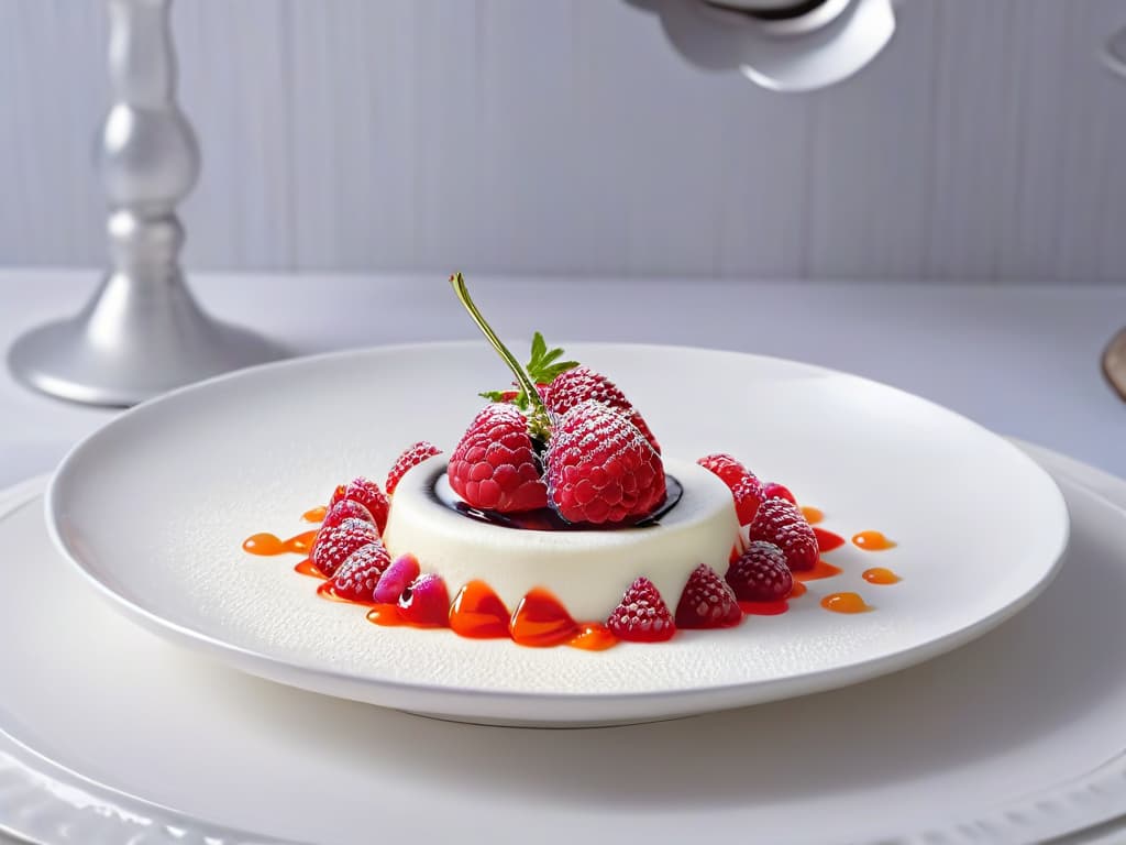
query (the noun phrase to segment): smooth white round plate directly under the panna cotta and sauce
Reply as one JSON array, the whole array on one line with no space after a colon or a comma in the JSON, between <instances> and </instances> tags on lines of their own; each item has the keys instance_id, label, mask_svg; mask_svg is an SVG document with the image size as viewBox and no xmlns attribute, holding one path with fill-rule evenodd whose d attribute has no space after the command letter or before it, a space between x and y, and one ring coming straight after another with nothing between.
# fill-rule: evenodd
<instances>
[{"instance_id":1,"label":"smooth white round plate directly under the panna cotta and sauce","mask_svg":"<svg viewBox=\"0 0 1126 845\"><path fill-rule=\"evenodd\" d=\"M294 559L244 537L302 530L341 480L382 478L409 443L452 447L506 373L483 344L287 362L170 394L79 445L47 495L60 546L135 620L285 684L481 722L642 721L842 686L935 657L997 625L1051 580L1067 537L1053 480L1012 444L856 376L703 349L578 345L643 410L669 456L744 459L849 536L897 542L829 559L789 613L605 652L381 629L316 597ZM307 527L307 526L304 526ZM891 568L903 580L869 585ZM824 611L831 592L874 611Z\"/></svg>"}]
</instances>

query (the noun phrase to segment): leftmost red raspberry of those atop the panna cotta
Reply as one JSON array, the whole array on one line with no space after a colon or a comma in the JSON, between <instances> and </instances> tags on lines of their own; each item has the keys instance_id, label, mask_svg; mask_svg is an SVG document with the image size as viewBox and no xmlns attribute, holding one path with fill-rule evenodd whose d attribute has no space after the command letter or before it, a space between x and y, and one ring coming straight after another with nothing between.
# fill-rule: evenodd
<instances>
[{"instance_id":1,"label":"leftmost red raspberry of those atop the panna cotta","mask_svg":"<svg viewBox=\"0 0 1126 845\"><path fill-rule=\"evenodd\" d=\"M511 514L547 505L528 421L511 404L486 404L449 457L449 486L467 504Z\"/></svg>"}]
</instances>

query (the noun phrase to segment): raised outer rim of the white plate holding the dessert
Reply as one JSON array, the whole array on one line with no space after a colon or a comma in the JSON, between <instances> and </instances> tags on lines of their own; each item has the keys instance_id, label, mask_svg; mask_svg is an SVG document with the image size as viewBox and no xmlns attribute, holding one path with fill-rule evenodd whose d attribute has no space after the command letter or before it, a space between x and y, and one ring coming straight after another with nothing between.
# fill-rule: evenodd
<instances>
[{"instance_id":1,"label":"raised outer rim of the white plate holding the dessert","mask_svg":"<svg viewBox=\"0 0 1126 845\"><path fill-rule=\"evenodd\" d=\"M614 693L590 693L590 692L531 692L526 690L482 690L463 686L450 686L436 683L403 682L390 678L359 677L354 673L334 670L324 666L307 661L298 661L280 656L267 653L256 648L250 648L235 642L221 639L207 631L198 630L187 624L181 624L170 620L157 612L135 603L129 597L115 590L101 578L98 577L81 559L77 552L72 551L70 544L63 536L57 513L57 498L61 496L61 488L66 479L66 473L75 461L78 461L88 450L92 448L97 442L105 436L107 430L123 425L123 421L131 420L137 416L152 412L153 408L160 408L168 403L180 400L185 395L213 389L216 385L224 385L231 382L253 379L262 372L282 372L287 370L301 370L305 367L321 366L328 362L342 362L351 358L363 358L372 355L395 355L404 354L418 349L480 349L481 343L475 340L441 340L409 344L392 344L361 347L354 349L333 350L316 355L287 358L277 362L245 367L231 373L223 373L211 379L179 388L155 399L143 402L131 408L97 430L90 433L79 441L63 457L62 462L51 474L47 489L43 497L44 517L52 543L60 551L63 558L69 561L82 577L91 584L104 599L124 612L126 616L141 623L150 631L166 637L171 641L190 648L197 653L207 653L216 659L223 659L242 671L247 671L257 677L268 681L297 686L312 692L334 695L338 697L351 699L354 701L366 702L376 706L390 706L409 710L411 712L438 715L439 718L464 719L479 724L528 724L528 726L587 726L587 724L613 724L613 723L636 723L641 721L652 721L654 719L678 718L695 713L713 712L735 706L752 705L768 701L778 701L794 695L814 694L828 690L840 688L865 681L873 679L881 675L897 671L909 666L926 662L942 653L964 646L974 639L983 635L988 631L999 625L1004 620L1019 613L1030 604L1040 593L1047 588L1060 571L1064 553L1071 535L1071 521L1067 514L1067 506L1063 493L1055 479L1027 453L1006 437L990 430L976 420L946 408L932 400L920 397L910 391L886 384L867 376L833 370L819 364L783 358L770 355L758 355L732 349L712 348L704 346L665 345L665 344L632 344L616 341L573 341L570 347L583 349L598 347L602 349L628 349L628 350L661 350L669 352L706 352L721 353L738 358L752 358L760 362L772 363L785 367L796 367L797 371L812 375L829 375L833 377L844 377L859 382L876 385L882 390L893 391L895 394L906 397L912 401L922 402L930 409L944 415L951 416L962 422L973 427L978 433L988 436L998 445L1003 446L1011 456L1018 459L1028 469L1037 473L1042 480L1046 481L1053 496L1053 507L1057 512L1061 533L1057 540L1057 548L1053 552L1053 563L1040 577L1037 584L1025 590L1020 596L1007 602L993 613L981 617L972 624L965 625L941 637L928 640L927 642L895 651L891 655L867 657L861 660L847 664L844 666L833 666L823 669L803 671L797 675L788 675L783 678L767 681L756 681L748 683L715 684L709 686L694 686L690 688L677 690L649 690L640 692L614 692ZM570 348L569 347L569 348ZM294 674L301 677L294 677ZM315 678L322 684L313 685L304 683L304 678ZM333 692L328 692L325 686L331 686ZM794 687L801 687L794 690ZM762 695L748 695L751 690L757 690ZM361 694L364 691L376 691L385 693L378 695L378 701L370 694ZM401 703L403 696L422 696L428 701L444 703L432 712L425 708L406 705ZM388 699L399 700L388 701ZM565 712L553 711L551 718L524 720L520 718L503 717L481 717L467 715L464 708L453 706L454 702L475 701L491 702L494 705L519 705L529 701L535 701L543 705L549 703L556 708L584 708L581 718L569 717ZM663 706L661 704L663 703ZM632 705L643 715L623 717L619 710L623 705ZM658 706L654 709L653 705ZM678 706L673 706L673 704ZM595 713L599 714L595 714Z\"/></svg>"}]
</instances>

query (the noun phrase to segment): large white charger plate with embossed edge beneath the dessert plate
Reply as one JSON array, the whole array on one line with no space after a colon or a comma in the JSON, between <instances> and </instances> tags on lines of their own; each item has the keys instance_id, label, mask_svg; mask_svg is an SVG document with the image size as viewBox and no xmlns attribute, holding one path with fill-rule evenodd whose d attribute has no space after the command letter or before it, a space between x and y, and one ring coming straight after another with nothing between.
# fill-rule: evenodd
<instances>
[{"instance_id":1,"label":"large white charger plate with embossed edge beneath the dessert plate","mask_svg":"<svg viewBox=\"0 0 1126 845\"><path fill-rule=\"evenodd\" d=\"M189 653L63 561L42 484L0 492L0 829L42 845L1078 845L1098 825L1120 842L1126 482L1034 454L1073 542L995 631L846 690L569 731L417 719Z\"/></svg>"}]
</instances>

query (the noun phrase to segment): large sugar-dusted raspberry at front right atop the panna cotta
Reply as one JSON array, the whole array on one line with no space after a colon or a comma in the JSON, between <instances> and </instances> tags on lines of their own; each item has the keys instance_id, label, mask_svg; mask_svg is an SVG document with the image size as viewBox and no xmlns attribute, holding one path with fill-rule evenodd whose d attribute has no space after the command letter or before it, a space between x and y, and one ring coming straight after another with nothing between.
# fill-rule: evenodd
<instances>
[{"instance_id":1,"label":"large sugar-dusted raspberry at front right atop the panna cotta","mask_svg":"<svg viewBox=\"0 0 1126 845\"><path fill-rule=\"evenodd\" d=\"M661 456L628 419L596 400L555 421L544 462L551 505L571 523L644 517L664 501Z\"/></svg>"}]
</instances>

